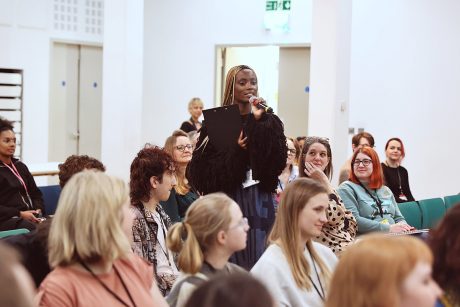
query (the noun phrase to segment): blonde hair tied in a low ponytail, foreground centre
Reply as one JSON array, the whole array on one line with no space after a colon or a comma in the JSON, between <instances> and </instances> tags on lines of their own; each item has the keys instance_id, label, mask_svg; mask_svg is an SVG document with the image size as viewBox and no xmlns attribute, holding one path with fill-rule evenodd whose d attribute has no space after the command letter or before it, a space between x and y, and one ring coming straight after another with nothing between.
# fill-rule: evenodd
<instances>
[{"instance_id":1,"label":"blonde hair tied in a low ponytail, foreground centre","mask_svg":"<svg viewBox=\"0 0 460 307\"><path fill-rule=\"evenodd\" d=\"M230 227L232 203L224 193L203 196L188 208L183 223L169 229L168 248L179 253L181 271L195 274L201 269L204 254L216 243L219 231Z\"/></svg>"}]
</instances>

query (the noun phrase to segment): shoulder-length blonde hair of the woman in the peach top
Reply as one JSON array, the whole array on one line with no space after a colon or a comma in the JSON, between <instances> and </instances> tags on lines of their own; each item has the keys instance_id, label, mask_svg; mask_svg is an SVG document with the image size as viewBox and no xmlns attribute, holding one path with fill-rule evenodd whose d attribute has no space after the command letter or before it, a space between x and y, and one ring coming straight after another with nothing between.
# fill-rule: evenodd
<instances>
[{"instance_id":1,"label":"shoulder-length blonde hair of the woman in the peach top","mask_svg":"<svg viewBox=\"0 0 460 307\"><path fill-rule=\"evenodd\" d=\"M122 228L122 208L127 205L128 188L121 179L94 170L72 176L62 190L51 224L50 265L125 257L130 244Z\"/></svg>"}]
</instances>

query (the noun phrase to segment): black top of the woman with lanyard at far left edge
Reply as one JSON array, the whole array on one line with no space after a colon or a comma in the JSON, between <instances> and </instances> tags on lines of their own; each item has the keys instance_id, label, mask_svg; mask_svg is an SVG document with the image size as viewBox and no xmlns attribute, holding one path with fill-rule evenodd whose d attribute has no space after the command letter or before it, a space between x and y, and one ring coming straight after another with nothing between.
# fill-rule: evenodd
<instances>
[{"instance_id":1,"label":"black top of the woman with lanyard at far left edge","mask_svg":"<svg viewBox=\"0 0 460 307\"><path fill-rule=\"evenodd\" d=\"M22 183L3 162L0 162L0 222L19 216L19 211L41 209L43 212L42 192L35 184L34 177L24 163L18 159L12 160L27 186L32 206L27 205L29 200Z\"/></svg>"}]
</instances>

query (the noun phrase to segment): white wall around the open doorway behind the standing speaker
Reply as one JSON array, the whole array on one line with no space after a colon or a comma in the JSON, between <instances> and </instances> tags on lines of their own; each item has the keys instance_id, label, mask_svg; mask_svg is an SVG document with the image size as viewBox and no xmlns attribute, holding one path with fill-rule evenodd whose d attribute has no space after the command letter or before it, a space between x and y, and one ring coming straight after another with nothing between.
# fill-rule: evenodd
<instances>
[{"instance_id":1,"label":"white wall around the open doorway behind the standing speaker","mask_svg":"<svg viewBox=\"0 0 460 307\"><path fill-rule=\"evenodd\" d=\"M311 0L292 1L290 33L266 31L264 9L265 0L145 1L143 140L163 145L191 97L213 106L216 45L310 43Z\"/></svg>"}]
</instances>

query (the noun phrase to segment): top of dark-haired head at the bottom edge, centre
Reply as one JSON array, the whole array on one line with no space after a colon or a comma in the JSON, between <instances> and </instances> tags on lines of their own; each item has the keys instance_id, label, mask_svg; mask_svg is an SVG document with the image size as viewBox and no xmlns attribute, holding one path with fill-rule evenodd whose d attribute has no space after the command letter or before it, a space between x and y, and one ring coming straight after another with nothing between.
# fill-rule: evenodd
<instances>
[{"instance_id":1,"label":"top of dark-haired head at the bottom edge, centre","mask_svg":"<svg viewBox=\"0 0 460 307\"><path fill-rule=\"evenodd\" d=\"M185 307L275 307L267 288L249 274L220 275L202 284Z\"/></svg>"}]
</instances>

